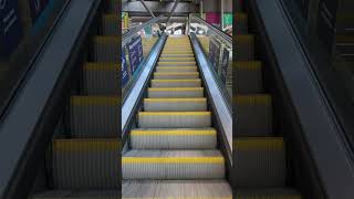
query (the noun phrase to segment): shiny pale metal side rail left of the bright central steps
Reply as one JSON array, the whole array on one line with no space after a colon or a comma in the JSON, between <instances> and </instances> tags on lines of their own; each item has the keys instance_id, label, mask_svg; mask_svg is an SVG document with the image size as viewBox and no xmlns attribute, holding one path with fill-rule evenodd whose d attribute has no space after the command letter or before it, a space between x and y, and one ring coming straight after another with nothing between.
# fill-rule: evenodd
<instances>
[{"instance_id":1,"label":"shiny pale metal side rail left of the bright central steps","mask_svg":"<svg viewBox=\"0 0 354 199\"><path fill-rule=\"evenodd\" d=\"M148 86L148 82L152 77L153 71L159 57L159 54L164 48L167 34L163 33L157 43L152 49L150 53L144 59L142 72L136 78L136 82L132 86L127 97L122 104L122 143L124 144L127 138L127 133L131 129L132 122L139 109L139 104L143 101L145 91Z\"/></svg>"}]
</instances>

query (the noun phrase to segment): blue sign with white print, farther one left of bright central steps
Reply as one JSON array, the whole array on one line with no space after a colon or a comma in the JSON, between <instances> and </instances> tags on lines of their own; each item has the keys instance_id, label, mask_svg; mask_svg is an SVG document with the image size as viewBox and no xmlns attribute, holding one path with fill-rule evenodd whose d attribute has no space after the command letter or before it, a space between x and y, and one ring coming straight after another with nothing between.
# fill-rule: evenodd
<instances>
[{"instance_id":1,"label":"blue sign with white print, farther one left of bright central steps","mask_svg":"<svg viewBox=\"0 0 354 199\"><path fill-rule=\"evenodd\" d=\"M132 39L132 41L127 44L127 48L129 53L131 72L133 75L137 66L144 59L142 36Z\"/></svg>"}]
</instances>

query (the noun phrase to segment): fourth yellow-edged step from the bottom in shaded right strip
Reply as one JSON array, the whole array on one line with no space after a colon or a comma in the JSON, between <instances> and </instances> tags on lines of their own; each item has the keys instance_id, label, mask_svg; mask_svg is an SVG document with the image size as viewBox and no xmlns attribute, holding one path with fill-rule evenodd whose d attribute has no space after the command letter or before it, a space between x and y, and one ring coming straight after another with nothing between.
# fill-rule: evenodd
<instances>
[{"instance_id":1,"label":"fourth yellow-edged step from the bottom in shaded right strip","mask_svg":"<svg viewBox=\"0 0 354 199\"><path fill-rule=\"evenodd\" d=\"M250 61L254 60L254 35L244 34L236 35L237 40L237 52L236 60L238 61Z\"/></svg>"}]
</instances>

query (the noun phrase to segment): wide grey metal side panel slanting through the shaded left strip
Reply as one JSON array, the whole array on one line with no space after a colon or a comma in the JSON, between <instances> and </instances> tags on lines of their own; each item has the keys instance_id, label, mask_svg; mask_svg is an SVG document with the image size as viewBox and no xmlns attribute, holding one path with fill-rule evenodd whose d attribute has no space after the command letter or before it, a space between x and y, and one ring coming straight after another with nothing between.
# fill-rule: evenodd
<instances>
[{"instance_id":1,"label":"wide grey metal side panel slanting through the shaded left strip","mask_svg":"<svg viewBox=\"0 0 354 199\"><path fill-rule=\"evenodd\" d=\"M43 114L52 116L48 108L52 109L53 104L48 103L53 103L59 80L65 80L62 74L70 71L65 66L72 59L72 51L79 51L77 44L86 35L100 4L101 0L70 2L8 108L0 126L0 198L12 198L13 195L22 198L18 195L25 195L25 186L30 182L22 176L31 175L27 169L33 167L33 158L41 155L43 148L39 148L50 135L43 129L46 126L41 124Z\"/></svg>"}]
</instances>

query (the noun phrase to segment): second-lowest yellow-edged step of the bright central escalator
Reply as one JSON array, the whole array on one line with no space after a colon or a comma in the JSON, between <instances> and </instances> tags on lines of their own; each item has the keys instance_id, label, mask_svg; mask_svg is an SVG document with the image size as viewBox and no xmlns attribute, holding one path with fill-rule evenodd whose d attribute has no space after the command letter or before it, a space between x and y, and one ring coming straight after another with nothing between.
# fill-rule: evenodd
<instances>
[{"instance_id":1,"label":"second-lowest yellow-edged step of the bright central escalator","mask_svg":"<svg viewBox=\"0 0 354 199\"><path fill-rule=\"evenodd\" d=\"M133 149L214 149L214 128L136 128L131 132Z\"/></svg>"}]
</instances>

